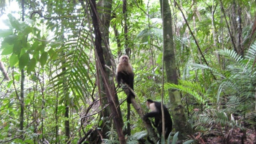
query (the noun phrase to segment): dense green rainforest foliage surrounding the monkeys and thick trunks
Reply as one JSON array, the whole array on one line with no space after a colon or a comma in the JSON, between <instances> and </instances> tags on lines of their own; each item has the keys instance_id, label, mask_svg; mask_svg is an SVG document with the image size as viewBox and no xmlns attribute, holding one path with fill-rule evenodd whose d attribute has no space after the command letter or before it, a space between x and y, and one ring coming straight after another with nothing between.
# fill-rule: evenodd
<instances>
[{"instance_id":1,"label":"dense green rainforest foliage surrounding the monkeys and thick trunks","mask_svg":"<svg viewBox=\"0 0 256 144\"><path fill-rule=\"evenodd\" d=\"M124 1L96 1L101 14L109 10L104 3L112 4L109 36L102 43L113 63L119 52L130 51L136 101L146 112L146 99L160 101L161 95L160 4L127 1L126 19ZM103 105L99 87L90 2L0 0L0 143L118 143L112 118L102 116L109 105ZM170 5L180 80L165 89L182 92L195 130L188 139L256 143L255 1L171 0ZM144 143L143 120L131 107L127 121L126 95L120 90L124 131L131 124L126 140Z\"/></svg>"}]
</instances>

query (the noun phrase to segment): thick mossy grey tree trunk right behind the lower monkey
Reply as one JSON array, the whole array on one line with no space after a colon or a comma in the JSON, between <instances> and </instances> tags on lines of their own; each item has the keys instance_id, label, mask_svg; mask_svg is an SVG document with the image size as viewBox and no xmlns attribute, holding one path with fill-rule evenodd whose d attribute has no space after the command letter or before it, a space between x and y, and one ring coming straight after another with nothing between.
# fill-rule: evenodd
<instances>
[{"instance_id":1,"label":"thick mossy grey tree trunk right behind the lower monkey","mask_svg":"<svg viewBox=\"0 0 256 144\"><path fill-rule=\"evenodd\" d=\"M171 10L168 0L160 0L160 5L161 10L163 10L163 60L165 64L167 82L178 84L172 34ZM168 93L171 102L170 105L175 130L180 132L180 139L185 139L185 136L193 131L191 126L187 123L184 108L181 103L180 92L177 90L168 90Z\"/></svg>"}]
</instances>

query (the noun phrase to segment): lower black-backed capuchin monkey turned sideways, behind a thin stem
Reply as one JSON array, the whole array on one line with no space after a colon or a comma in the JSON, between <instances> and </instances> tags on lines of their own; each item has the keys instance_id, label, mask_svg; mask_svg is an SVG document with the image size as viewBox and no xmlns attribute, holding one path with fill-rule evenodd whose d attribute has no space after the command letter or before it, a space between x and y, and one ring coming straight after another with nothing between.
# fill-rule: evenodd
<instances>
[{"instance_id":1,"label":"lower black-backed capuchin monkey turned sideways, behind a thin stem","mask_svg":"<svg viewBox=\"0 0 256 144\"><path fill-rule=\"evenodd\" d=\"M157 132L159 135L162 135L162 111L161 111L161 103L152 101L151 99L148 99L146 101L147 108L150 109L151 112L146 113L144 115L144 119L149 117L155 117L155 123L153 125L157 128ZM163 113L165 115L165 138L167 139L170 132L172 131L172 119L169 114L168 109L165 105L163 105ZM147 140L149 142L153 142L149 139L149 136L147 137Z\"/></svg>"}]
</instances>

